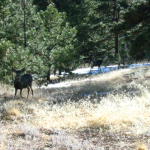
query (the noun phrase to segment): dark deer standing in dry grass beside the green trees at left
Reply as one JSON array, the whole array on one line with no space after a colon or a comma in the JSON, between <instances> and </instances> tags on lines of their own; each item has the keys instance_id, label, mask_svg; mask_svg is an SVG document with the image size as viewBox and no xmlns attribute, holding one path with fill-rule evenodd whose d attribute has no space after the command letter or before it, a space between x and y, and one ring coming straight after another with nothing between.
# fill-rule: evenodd
<instances>
[{"instance_id":1,"label":"dark deer standing in dry grass beside the green trees at left","mask_svg":"<svg viewBox=\"0 0 150 150\"><path fill-rule=\"evenodd\" d=\"M31 74L23 74L23 72L25 71L25 68L23 68L21 70L13 69L12 71L16 73L15 80L14 80L15 97L17 95L18 89L20 90L20 97L22 97L22 90L24 88L28 89L27 98L29 96L30 90L31 90L32 96L33 96L32 75Z\"/></svg>"}]
</instances>

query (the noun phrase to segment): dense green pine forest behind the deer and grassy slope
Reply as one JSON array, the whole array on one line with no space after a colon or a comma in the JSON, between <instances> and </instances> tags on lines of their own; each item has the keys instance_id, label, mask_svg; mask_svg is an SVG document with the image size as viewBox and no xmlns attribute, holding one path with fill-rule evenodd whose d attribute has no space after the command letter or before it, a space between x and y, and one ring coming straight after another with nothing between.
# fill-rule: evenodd
<instances>
[{"instance_id":1,"label":"dense green pine forest behind the deer and grassy slope","mask_svg":"<svg viewBox=\"0 0 150 150\"><path fill-rule=\"evenodd\" d=\"M149 60L149 39L150 0L1 0L0 79Z\"/></svg>"}]
</instances>

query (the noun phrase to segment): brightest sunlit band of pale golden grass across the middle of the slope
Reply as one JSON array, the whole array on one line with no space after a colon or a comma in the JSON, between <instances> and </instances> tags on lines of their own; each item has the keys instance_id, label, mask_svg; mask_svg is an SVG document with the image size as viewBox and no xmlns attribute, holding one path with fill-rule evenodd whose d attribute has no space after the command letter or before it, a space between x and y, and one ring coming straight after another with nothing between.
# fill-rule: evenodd
<instances>
[{"instance_id":1,"label":"brightest sunlit band of pale golden grass across the middle of the slope","mask_svg":"<svg viewBox=\"0 0 150 150\"><path fill-rule=\"evenodd\" d=\"M32 123L47 128L80 129L106 127L111 131L128 130L142 134L150 127L150 94L145 90L140 97L109 95L99 104L81 100L79 103L55 105L51 110L35 107ZM144 127L144 128L143 128Z\"/></svg>"}]
</instances>

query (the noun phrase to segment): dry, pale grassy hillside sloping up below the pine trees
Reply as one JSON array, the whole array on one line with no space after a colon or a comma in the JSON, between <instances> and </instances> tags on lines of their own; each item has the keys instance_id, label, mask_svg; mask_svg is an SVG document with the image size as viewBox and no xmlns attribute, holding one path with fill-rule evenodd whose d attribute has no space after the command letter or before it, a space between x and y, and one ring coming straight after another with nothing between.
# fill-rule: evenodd
<instances>
[{"instance_id":1,"label":"dry, pale grassy hillside sloping up below the pine trees","mask_svg":"<svg viewBox=\"0 0 150 150\"><path fill-rule=\"evenodd\" d=\"M2 150L146 150L150 147L150 69L124 69L35 88L13 98L0 86ZM24 96L25 96L24 91Z\"/></svg>"}]
</instances>

